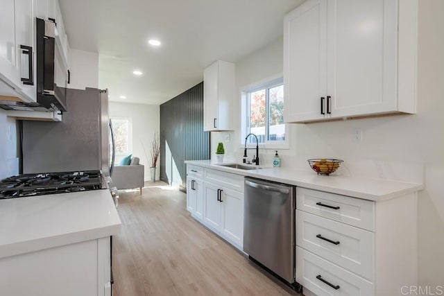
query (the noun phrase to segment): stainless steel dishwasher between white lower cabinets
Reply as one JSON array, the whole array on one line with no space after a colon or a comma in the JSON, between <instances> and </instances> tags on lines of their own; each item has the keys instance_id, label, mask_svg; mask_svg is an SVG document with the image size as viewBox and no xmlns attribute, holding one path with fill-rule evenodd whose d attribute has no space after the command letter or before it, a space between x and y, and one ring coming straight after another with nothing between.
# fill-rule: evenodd
<instances>
[{"instance_id":1,"label":"stainless steel dishwasher between white lower cabinets","mask_svg":"<svg viewBox=\"0 0 444 296\"><path fill-rule=\"evenodd\" d=\"M244 252L300 290L295 281L294 186L245 178Z\"/></svg>"}]
</instances>

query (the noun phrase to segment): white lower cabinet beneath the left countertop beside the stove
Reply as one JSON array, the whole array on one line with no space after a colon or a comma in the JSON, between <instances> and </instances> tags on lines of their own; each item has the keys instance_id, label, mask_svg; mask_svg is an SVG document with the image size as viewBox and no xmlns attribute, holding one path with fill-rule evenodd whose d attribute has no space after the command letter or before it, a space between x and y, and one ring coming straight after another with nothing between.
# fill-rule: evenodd
<instances>
[{"instance_id":1,"label":"white lower cabinet beneath the left countertop beside the stove","mask_svg":"<svg viewBox=\"0 0 444 296\"><path fill-rule=\"evenodd\" d=\"M110 237L0 259L1 295L110 296Z\"/></svg>"}]
</instances>

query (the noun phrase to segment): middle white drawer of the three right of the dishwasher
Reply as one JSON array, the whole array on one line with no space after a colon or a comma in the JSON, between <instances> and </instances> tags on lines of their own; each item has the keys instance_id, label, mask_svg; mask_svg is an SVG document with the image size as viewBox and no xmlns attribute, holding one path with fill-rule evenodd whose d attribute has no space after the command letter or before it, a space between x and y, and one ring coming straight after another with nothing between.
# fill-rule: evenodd
<instances>
[{"instance_id":1,"label":"middle white drawer of the three right of the dishwasher","mask_svg":"<svg viewBox=\"0 0 444 296\"><path fill-rule=\"evenodd\" d=\"M373 232L296 210L296 245L374 279Z\"/></svg>"}]
</instances>

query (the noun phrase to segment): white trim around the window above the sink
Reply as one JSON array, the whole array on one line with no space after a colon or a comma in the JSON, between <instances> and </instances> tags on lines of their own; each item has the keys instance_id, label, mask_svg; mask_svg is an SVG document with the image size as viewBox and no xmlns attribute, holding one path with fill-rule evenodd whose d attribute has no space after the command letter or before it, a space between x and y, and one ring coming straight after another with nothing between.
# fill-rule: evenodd
<instances>
[{"instance_id":1,"label":"white trim around the window above the sink","mask_svg":"<svg viewBox=\"0 0 444 296\"><path fill-rule=\"evenodd\" d=\"M269 87L275 84L276 80L280 80L283 77L283 73L278 73L266 79L251 83L250 85L245 85L241 87L241 131L240 136L241 141L239 148L245 147L245 137L247 135L248 123L247 123L247 108L248 108L248 92L254 92L257 89L262 89L265 87ZM284 94L285 101L285 94ZM289 139L289 124L285 123L285 140L284 141L266 141L265 143L259 143L260 149L284 149L287 150L290 148L290 139ZM255 148L256 143L247 143L247 148Z\"/></svg>"}]
</instances>

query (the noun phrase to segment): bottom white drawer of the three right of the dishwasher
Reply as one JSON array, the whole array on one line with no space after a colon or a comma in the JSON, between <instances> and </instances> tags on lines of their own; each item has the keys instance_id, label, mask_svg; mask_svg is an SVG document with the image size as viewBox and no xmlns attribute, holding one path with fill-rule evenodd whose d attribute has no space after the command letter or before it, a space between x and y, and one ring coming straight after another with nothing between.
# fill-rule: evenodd
<instances>
[{"instance_id":1,"label":"bottom white drawer of the three right of the dishwasher","mask_svg":"<svg viewBox=\"0 0 444 296\"><path fill-rule=\"evenodd\" d=\"M375 286L370 281L300 247L296 247L296 281L316 295L375 294Z\"/></svg>"}]
</instances>

